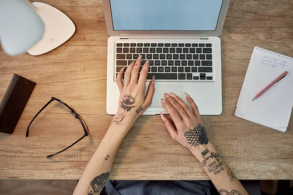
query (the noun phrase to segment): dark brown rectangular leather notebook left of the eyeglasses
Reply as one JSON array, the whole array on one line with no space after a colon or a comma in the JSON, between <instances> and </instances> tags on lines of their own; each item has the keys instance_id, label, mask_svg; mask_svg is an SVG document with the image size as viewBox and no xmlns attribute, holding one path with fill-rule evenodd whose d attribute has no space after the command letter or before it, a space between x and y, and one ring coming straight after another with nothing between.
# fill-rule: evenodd
<instances>
[{"instance_id":1,"label":"dark brown rectangular leather notebook left of the eyeglasses","mask_svg":"<svg viewBox=\"0 0 293 195\"><path fill-rule=\"evenodd\" d=\"M0 103L0 132L12 134L36 83L14 74Z\"/></svg>"}]
</instances>

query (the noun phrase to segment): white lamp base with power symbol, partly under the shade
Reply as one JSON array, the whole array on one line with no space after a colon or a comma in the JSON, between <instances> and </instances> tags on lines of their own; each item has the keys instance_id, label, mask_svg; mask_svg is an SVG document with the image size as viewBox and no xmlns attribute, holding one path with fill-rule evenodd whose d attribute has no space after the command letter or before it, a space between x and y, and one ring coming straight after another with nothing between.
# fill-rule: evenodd
<instances>
[{"instance_id":1,"label":"white lamp base with power symbol, partly under the shade","mask_svg":"<svg viewBox=\"0 0 293 195\"><path fill-rule=\"evenodd\" d=\"M27 52L32 56L42 55L70 39L75 32L75 25L59 9L42 2L33 2L37 14L41 17L45 31L42 39Z\"/></svg>"}]
</instances>

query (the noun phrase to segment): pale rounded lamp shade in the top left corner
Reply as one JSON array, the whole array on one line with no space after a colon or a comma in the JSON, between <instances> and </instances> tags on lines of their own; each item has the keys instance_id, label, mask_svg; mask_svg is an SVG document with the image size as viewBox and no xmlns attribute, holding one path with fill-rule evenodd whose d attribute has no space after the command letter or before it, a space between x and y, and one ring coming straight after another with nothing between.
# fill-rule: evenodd
<instances>
[{"instance_id":1,"label":"pale rounded lamp shade in the top left corner","mask_svg":"<svg viewBox=\"0 0 293 195\"><path fill-rule=\"evenodd\" d=\"M24 0L0 0L0 42L11 56L33 47L44 34L44 24Z\"/></svg>"}]
</instances>

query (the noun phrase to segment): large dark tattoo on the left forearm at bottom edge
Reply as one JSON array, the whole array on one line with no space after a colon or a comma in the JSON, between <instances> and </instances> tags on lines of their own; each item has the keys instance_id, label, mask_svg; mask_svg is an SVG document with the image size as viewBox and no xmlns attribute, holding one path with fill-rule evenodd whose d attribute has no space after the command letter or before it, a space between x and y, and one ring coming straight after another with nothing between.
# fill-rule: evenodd
<instances>
[{"instance_id":1,"label":"large dark tattoo on the left forearm at bottom edge","mask_svg":"<svg viewBox=\"0 0 293 195\"><path fill-rule=\"evenodd\" d=\"M87 195L100 195L110 173L104 173L100 176L96 176L87 188Z\"/></svg>"}]
</instances>

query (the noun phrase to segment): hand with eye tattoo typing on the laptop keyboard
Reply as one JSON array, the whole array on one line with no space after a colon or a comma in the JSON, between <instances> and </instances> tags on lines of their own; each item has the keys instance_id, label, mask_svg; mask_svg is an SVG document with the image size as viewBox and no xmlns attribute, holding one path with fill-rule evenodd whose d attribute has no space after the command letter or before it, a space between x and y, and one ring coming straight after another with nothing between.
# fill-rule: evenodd
<instances>
[{"instance_id":1,"label":"hand with eye tattoo typing on the laptop keyboard","mask_svg":"<svg viewBox=\"0 0 293 195\"><path fill-rule=\"evenodd\" d=\"M128 125L130 129L136 119L140 117L146 108L151 104L155 92L155 78L153 77L148 85L146 92L146 77L148 73L149 60L146 61L140 71L142 56L132 61L127 67L125 74L124 68L118 73L117 85L120 90L119 107L113 117L111 125ZM138 79L140 71L140 76ZM124 74L124 83L122 76Z\"/></svg>"}]
</instances>

